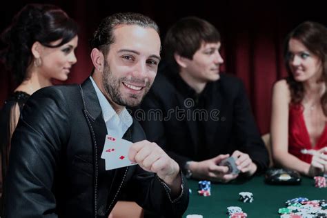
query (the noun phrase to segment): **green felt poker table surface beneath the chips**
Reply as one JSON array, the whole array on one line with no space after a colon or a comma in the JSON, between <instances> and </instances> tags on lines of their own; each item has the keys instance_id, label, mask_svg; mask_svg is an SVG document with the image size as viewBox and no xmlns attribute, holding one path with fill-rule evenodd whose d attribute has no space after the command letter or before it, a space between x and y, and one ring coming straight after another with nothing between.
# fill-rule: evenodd
<instances>
[{"instance_id":1,"label":"green felt poker table surface beneath the chips","mask_svg":"<svg viewBox=\"0 0 327 218\"><path fill-rule=\"evenodd\" d=\"M230 184L211 184L211 196L208 197L197 194L198 181L189 179L188 186L192 193L183 217L195 214L204 218L228 217L228 206L241 207L250 218L279 217L278 209L284 208L288 199L327 199L327 188L316 188L315 180L308 177L302 177L299 185L268 185L264 183L264 175ZM254 201L239 201L239 192L252 192Z\"/></svg>"}]
</instances>

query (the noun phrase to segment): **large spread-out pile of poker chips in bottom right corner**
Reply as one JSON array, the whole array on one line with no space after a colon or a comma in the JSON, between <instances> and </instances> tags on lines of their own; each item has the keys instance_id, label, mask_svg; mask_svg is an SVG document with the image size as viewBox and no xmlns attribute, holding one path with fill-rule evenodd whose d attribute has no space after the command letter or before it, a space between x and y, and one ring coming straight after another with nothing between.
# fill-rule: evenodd
<instances>
[{"instance_id":1,"label":"large spread-out pile of poker chips in bottom right corner","mask_svg":"<svg viewBox=\"0 0 327 218\"><path fill-rule=\"evenodd\" d=\"M326 200L309 201L306 197L297 197L286 201L287 208L279 208L282 218L327 217Z\"/></svg>"}]
</instances>

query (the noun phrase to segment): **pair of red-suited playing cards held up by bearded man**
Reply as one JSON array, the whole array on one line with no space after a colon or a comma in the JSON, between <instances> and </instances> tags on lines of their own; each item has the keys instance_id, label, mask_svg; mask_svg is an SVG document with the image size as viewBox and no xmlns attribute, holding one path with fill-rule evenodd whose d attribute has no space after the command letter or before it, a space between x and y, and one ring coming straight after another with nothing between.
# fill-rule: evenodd
<instances>
[{"instance_id":1,"label":"pair of red-suited playing cards held up by bearded man","mask_svg":"<svg viewBox=\"0 0 327 218\"><path fill-rule=\"evenodd\" d=\"M106 161L106 170L135 165L136 163L128 159L130 146L132 146L132 142L130 141L106 135L106 141L101 155L101 158Z\"/></svg>"}]
</instances>

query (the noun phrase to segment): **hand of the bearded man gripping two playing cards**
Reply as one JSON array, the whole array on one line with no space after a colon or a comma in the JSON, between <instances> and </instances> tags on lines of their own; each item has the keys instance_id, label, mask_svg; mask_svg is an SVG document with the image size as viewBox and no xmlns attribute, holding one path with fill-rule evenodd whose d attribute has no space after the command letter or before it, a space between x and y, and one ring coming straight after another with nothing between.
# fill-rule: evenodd
<instances>
[{"instance_id":1,"label":"hand of the bearded man gripping two playing cards","mask_svg":"<svg viewBox=\"0 0 327 218\"><path fill-rule=\"evenodd\" d=\"M128 158L139 164L143 170L157 173L158 177L171 188L172 193L181 192L179 166L157 143L148 140L133 143Z\"/></svg>"}]
</instances>

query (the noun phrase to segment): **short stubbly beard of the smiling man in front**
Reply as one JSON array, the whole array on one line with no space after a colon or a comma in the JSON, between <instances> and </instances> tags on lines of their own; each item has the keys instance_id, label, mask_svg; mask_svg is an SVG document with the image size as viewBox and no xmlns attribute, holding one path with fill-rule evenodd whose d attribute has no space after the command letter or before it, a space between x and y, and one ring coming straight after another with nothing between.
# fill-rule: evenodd
<instances>
[{"instance_id":1,"label":"short stubbly beard of the smiling man in front","mask_svg":"<svg viewBox=\"0 0 327 218\"><path fill-rule=\"evenodd\" d=\"M119 86L124 86L122 82L140 84L143 87L143 95L129 94L123 97L119 92ZM146 79L138 79L136 77L115 77L110 71L110 66L107 61L104 61L102 85L111 100L120 106L135 107L141 103L142 99L150 90L150 81Z\"/></svg>"}]
</instances>

